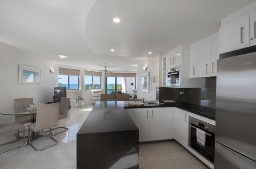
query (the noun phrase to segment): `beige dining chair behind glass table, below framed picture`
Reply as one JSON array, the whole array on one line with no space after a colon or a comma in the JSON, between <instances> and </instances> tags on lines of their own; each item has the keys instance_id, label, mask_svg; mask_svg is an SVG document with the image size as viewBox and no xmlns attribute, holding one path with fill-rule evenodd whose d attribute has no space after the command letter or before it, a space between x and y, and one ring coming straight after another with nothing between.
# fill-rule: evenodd
<instances>
[{"instance_id":1,"label":"beige dining chair behind glass table, below framed picture","mask_svg":"<svg viewBox=\"0 0 256 169\"><path fill-rule=\"evenodd\" d=\"M33 98L14 99L15 109L29 107L30 104L33 104ZM22 124L30 123L31 115L15 115L15 121Z\"/></svg>"}]
</instances>

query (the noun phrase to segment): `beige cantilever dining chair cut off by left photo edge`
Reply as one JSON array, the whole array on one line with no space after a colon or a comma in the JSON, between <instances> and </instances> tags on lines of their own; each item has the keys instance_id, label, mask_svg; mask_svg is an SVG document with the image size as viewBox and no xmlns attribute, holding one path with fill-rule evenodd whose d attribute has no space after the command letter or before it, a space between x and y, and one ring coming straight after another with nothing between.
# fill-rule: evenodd
<instances>
[{"instance_id":1,"label":"beige cantilever dining chair cut off by left photo edge","mask_svg":"<svg viewBox=\"0 0 256 169\"><path fill-rule=\"evenodd\" d=\"M12 123L6 123L6 124L1 124L0 125L0 135L17 131L17 135L15 134L15 136L16 136L15 140L12 140L12 141L4 143L4 144L1 144L0 146L4 146L4 145L7 145L7 144L16 142L19 139L19 130L23 130L23 143L21 145L17 146L17 147L13 147L13 148L1 151L0 154L4 153L4 152L7 152L7 151L17 149L17 148L20 148L20 147L25 145L25 126L22 123L12 122Z\"/></svg>"}]
</instances>

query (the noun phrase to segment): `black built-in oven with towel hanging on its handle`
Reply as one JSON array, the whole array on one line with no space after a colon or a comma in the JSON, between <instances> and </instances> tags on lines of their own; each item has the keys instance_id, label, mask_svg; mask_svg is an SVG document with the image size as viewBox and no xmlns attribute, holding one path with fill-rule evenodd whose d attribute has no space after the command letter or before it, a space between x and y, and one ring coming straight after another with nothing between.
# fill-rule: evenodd
<instances>
[{"instance_id":1,"label":"black built-in oven with towel hanging on its handle","mask_svg":"<svg viewBox=\"0 0 256 169\"><path fill-rule=\"evenodd\" d=\"M197 129L199 129L197 131ZM203 140L200 134L203 134ZM202 135L201 135L202 136ZM200 140L201 139L201 140ZM188 146L214 163L215 126L189 116Z\"/></svg>"}]
</instances>

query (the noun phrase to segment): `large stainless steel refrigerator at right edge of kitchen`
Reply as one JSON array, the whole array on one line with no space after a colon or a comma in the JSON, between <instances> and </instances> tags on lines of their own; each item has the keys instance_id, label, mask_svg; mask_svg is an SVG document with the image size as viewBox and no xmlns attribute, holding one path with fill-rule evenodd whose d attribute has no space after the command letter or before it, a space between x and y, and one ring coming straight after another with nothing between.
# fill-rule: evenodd
<instances>
[{"instance_id":1,"label":"large stainless steel refrigerator at right edge of kitchen","mask_svg":"<svg viewBox=\"0 0 256 169\"><path fill-rule=\"evenodd\" d=\"M256 53L217 69L215 169L256 168Z\"/></svg>"}]
</instances>

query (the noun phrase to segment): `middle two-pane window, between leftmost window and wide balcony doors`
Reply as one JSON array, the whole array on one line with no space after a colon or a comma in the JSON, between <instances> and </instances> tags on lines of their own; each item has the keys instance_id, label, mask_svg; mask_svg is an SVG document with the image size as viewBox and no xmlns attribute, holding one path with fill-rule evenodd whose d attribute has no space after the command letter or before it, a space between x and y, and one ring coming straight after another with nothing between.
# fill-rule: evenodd
<instances>
[{"instance_id":1,"label":"middle two-pane window, between leftmost window and wide balcony doors","mask_svg":"<svg viewBox=\"0 0 256 169\"><path fill-rule=\"evenodd\" d=\"M84 89L101 89L101 76L84 76Z\"/></svg>"}]
</instances>

